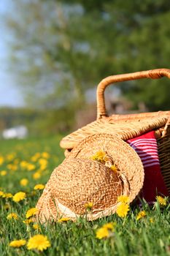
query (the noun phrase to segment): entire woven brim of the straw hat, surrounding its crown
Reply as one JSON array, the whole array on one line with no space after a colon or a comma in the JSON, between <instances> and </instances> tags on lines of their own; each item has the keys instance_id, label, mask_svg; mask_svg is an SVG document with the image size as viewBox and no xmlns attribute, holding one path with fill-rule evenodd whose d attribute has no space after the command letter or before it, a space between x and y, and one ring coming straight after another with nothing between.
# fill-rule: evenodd
<instances>
[{"instance_id":1,"label":"entire woven brim of the straw hat, surrounding its crown","mask_svg":"<svg viewBox=\"0 0 170 256\"><path fill-rule=\"evenodd\" d=\"M75 146L71 154L69 154L69 157L64 161L69 161L70 158L90 159L90 157L93 154L96 154L97 151L104 151L109 157L112 157L114 164L120 170L120 174L125 176L129 187L128 194L126 193L125 195L128 195L131 203L142 189L144 182L144 167L138 154L136 154L136 151L134 151L128 143L125 143L114 135L102 133L90 135ZM53 173L50 179L53 180ZM69 217L70 219L75 220L77 217L80 217L79 214L75 214L69 208L63 206L58 198L52 197L48 184L50 184L50 180L46 185L46 190L43 192L44 195L42 194L42 197L39 198L40 203L37 204L41 218L43 217L43 214L47 219ZM96 211L95 213L93 213L93 211L87 212L85 218L94 220L114 214L119 204L120 203L115 203L97 213Z\"/></svg>"}]
</instances>

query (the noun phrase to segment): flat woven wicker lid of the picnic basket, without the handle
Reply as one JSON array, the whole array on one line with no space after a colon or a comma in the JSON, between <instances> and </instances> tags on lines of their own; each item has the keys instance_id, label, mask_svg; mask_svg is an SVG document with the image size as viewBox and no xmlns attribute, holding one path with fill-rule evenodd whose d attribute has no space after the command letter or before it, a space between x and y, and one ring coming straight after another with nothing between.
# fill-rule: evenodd
<instances>
[{"instance_id":1,"label":"flat woven wicker lid of the picnic basket, without the handle","mask_svg":"<svg viewBox=\"0 0 170 256\"><path fill-rule=\"evenodd\" d=\"M93 135L96 132L110 133L112 135L117 135L123 140L129 140L144 134L144 132L163 127L168 120L169 112L162 114L159 112L157 115L152 116L152 118L151 115L147 118L142 117L142 114L140 114L139 117L134 116L134 118L130 116L130 119L128 119L128 116L127 119L119 119L117 117L115 120L114 115L114 118L110 116L109 118L101 118L97 121L93 121L85 127L82 127L82 129L77 129L76 132L63 138L60 146L61 148L72 149L80 142L80 140L86 138L88 135Z\"/></svg>"}]
</instances>

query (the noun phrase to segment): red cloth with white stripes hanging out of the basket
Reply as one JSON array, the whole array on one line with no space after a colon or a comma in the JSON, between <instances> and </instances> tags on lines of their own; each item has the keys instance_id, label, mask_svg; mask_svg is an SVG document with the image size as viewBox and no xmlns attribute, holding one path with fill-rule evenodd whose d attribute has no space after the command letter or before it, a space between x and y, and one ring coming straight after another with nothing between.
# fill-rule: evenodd
<instances>
[{"instance_id":1,"label":"red cloth with white stripes hanging out of the basket","mask_svg":"<svg viewBox=\"0 0 170 256\"><path fill-rule=\"evenodd\" d=\"M127 140L127 143L134 148L144 166L144 186L139 196L144 197L148 203L155 201L156 195L168 196L161 174L155 132L147 132L144 135Z\"/></svg>"}]
</instances>

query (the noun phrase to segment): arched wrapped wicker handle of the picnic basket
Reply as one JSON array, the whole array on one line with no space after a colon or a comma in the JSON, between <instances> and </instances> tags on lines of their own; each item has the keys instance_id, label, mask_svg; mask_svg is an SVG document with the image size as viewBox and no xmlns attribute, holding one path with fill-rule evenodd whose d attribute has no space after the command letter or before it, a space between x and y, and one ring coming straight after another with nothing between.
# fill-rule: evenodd
<instances>
[{"instance_id":1,"label":"arched wrapped wicker handle of the picnic basket","mask_svg":"<svg viewBox=\"0 0 170 256\"><path fill-rule=\"evenodd\" d=\"M138 80L142 78L158 79L164 76L170 79L170 69L151 69L123 75L111 75L107 78L104 78L100 83L98 83L97 88L97 119L102 118L102 116L107 116L104 91L107 86L109 86L109 84L128 80Z\"/></svg>"}]
</instances>

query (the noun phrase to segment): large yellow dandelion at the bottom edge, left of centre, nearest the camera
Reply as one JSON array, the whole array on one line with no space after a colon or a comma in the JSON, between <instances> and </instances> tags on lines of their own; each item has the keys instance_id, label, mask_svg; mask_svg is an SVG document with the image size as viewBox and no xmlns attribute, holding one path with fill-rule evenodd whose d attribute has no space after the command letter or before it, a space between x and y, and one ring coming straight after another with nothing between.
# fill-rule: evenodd
<instances>
[{"instance_id":1,"label":"large yellow dandelion at the bottom edge, left of centre, nearest the camera","mask_svg":"<svg viewBox=\"0 0 170 256\"><path fill-rule=\"evenodd\" d=\"M48 241L47 236L35 235L29 238L27 247L28 249L43 251L50 247L50 241Z\"/></svg>"}]
</instances>

